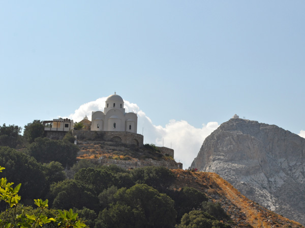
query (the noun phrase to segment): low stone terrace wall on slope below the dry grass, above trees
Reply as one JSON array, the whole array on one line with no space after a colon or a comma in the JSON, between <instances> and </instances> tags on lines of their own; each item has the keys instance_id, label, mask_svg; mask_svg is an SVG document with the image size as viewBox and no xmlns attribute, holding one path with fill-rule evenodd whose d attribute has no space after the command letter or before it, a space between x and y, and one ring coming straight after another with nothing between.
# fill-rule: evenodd
<instances>
[{"instance_id":1,"label":"low stone terrace wall on slope below the dry grass, above trees","mask_svg":"<svg viewBox=\"0 0 305 228\"><path fill-rule=\"evenodd\" d=\"M156 161L152 159L145 159L145 160L132 160L132 161L124 161L124 160L115 160L115 159L90 159L90 161L96 164L102 164L104 166L109 165L117 165L124 169L135 169L135 168L142 168L146 166L163 166L168 169L182 169L181 163L176 163L173 160L166 160L166 161Z\"/></svg>"}]
</instances>

